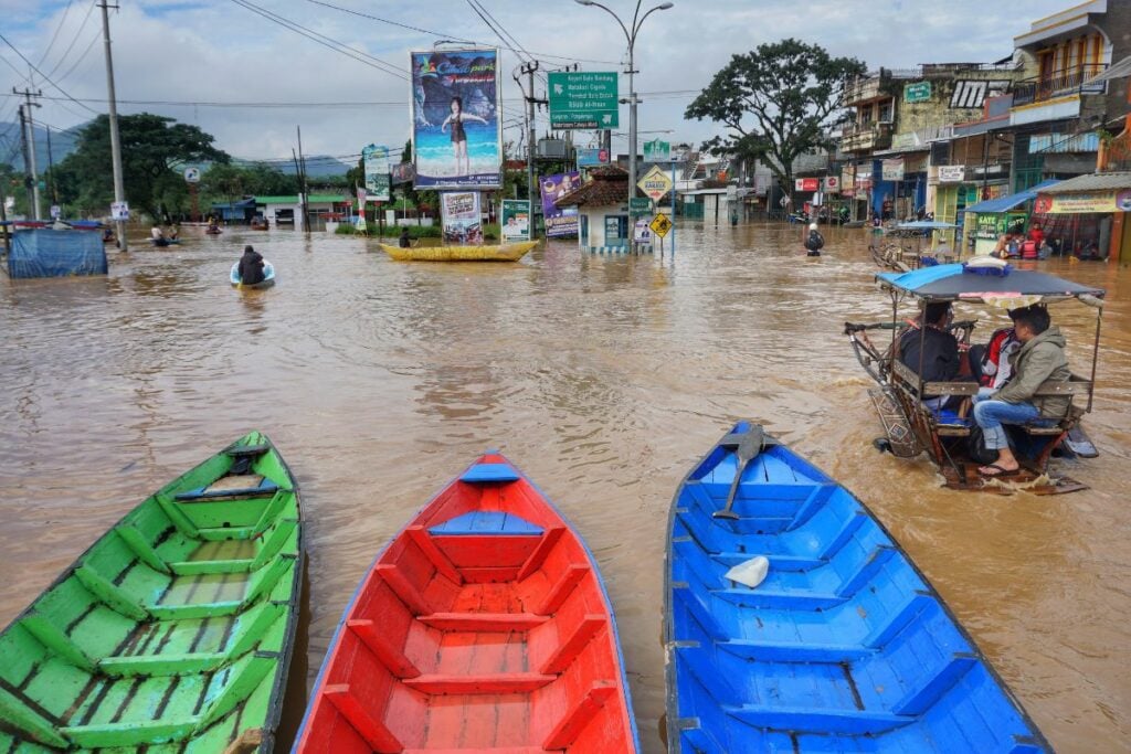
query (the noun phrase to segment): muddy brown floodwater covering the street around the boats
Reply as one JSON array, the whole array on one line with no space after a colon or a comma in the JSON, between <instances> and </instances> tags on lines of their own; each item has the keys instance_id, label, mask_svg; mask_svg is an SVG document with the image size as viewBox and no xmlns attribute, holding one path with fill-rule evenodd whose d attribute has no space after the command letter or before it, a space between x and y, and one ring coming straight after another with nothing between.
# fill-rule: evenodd
<instances>
[{"instance_id":1,"label":"muddy brown floodwater covering the street around the boats","mask_svg":"<svg viewBox=\"0 0 1131 754\"><path fill-rule=\"evenodd\" d=\"M588 540L644 749L659 752L668 503L746 417L872 508L1054 746L1126 751L1131 272L1044 263L1110 292L1086 422L1102 456L1057 461L1091 489L957 493L925 460L870 444L869 382L840 335L888 311L864 231L829 231L817 261L800 233L691 225L674 260L554 242L517 265L428 265L349 237L228 229L114 254L106 278L0 276L0 625L144 496L262 430L299 477L309 546L286 744L374 554L500 448ZM248 242L275 288L227 285ZM1093 337L1081 310L1053 310L1078 369Z\"/></svg>"}]
</instances>

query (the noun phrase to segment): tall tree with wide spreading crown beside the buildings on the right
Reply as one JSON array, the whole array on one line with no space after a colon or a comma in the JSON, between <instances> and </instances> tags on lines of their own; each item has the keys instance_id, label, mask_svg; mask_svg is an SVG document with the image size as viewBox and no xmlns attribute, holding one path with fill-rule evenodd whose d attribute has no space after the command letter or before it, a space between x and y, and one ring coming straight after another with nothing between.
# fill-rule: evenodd
<instances>
[{"instance_id":1,"label":"tall tree with wide spreading crown beside the buildings on the right","mask_svg":"<svg viewBox=\"0 0 1131 754\"><path fill-rule=\"evenodd\" d=\"M733 55L684 116L726 125L731 132L702 148L740 161L761 159L788 192L793 161L834 146L826 127L840 107L845 84L866 70L855 58L831 58L820 45L793 38L761 44Z\"/></svg>"}]
</instances>

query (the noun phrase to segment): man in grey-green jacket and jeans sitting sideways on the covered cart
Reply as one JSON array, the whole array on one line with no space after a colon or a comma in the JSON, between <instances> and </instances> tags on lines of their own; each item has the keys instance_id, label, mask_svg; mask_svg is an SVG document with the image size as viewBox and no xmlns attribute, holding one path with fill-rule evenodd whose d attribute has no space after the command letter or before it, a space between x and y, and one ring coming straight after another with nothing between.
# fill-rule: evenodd
<instances>
[{"instance_id":1,"label":"man in grey-green jacket and jeans sitting sideways on the covered cart","mask_svg":"<svg viewBox=\"0 0 1131 754\"><path fill-rule=\"evenodd\" d=\"M998 451L998 460L978 469L983 476L1012 474L1020 463L1009 448L1002 424L1044 423L1064 418L1068 396L1036 396L1043 387L1068 382L1071 371L1064 355L1064 336L1051 324L1048 311L1033 305L1010 312L1021 347L1010 354L1013 376L995 392L985 390L974 400L974 421L982 427L986 448Z\"/></svg>"}]
</instances>

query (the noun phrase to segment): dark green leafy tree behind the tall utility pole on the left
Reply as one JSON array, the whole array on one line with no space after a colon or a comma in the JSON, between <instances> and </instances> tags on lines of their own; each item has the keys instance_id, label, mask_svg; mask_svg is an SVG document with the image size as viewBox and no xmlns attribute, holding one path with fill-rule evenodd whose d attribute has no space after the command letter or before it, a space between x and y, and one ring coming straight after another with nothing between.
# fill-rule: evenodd
<instances>
[{"instance_id":1,"label":"dark green leafy tree behind the tall utility pole on the left","mask_svg":"<svg viewBox=\"0 0 1131 754\"><path fill-rule=\"evenodd\" d=\"M181 170L198 163L226 163L214 138L196 125L140 113L118 119L122 179L131 207L150 217L184 211L188 187ZM84 213L105 213L114 197L110 121L98 115L79 133L75 151L58 168L61 198Z\"/></svg>"}]
</instances>

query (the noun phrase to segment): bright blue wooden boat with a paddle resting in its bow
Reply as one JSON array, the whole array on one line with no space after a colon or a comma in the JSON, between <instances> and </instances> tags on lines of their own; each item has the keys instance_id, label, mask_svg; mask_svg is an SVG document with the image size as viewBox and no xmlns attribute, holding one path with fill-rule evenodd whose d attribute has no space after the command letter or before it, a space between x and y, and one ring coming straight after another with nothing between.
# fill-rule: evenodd
<instances>
[{"instance_id":1,"label":"bright blue wooden boat with a paddle resting in its bow","mask_svg":"<svg viewBox=\"0 0 1131 754\"><path fill-rule=\"evenodd\" d=\"M668 535L670 752L1052 751L867 508L761 427L694 467Z\"/></svg>"}]
</instances>

